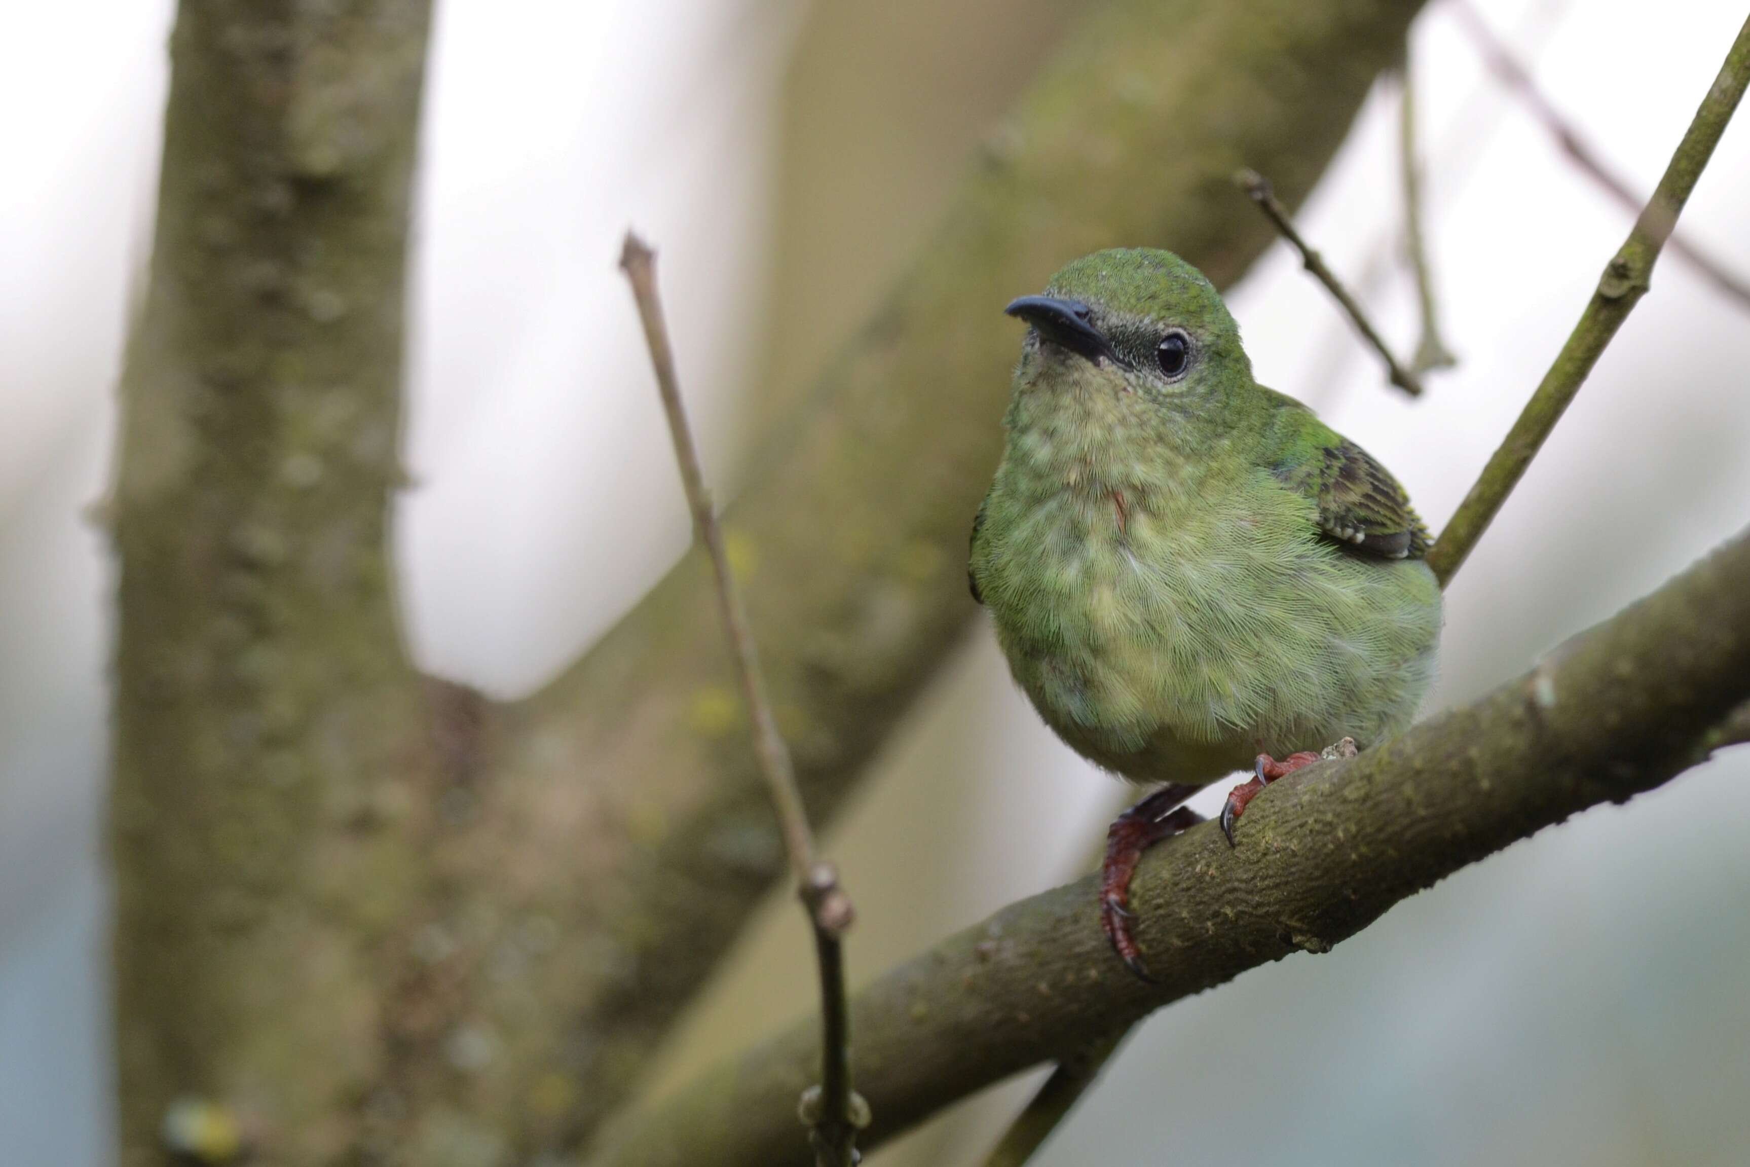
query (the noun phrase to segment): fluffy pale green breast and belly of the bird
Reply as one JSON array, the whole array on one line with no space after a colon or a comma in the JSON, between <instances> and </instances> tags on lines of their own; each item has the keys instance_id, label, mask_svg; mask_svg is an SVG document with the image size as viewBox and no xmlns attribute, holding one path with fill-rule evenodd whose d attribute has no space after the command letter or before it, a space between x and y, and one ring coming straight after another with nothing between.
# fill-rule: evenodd
<instances>
[{"instance_id":1,"label":"fluffy pale green breast and belly of the bird","mask_svg":"<svg viewBox=\"0 0 1750 1167\"><path fill-rule=\"evenodd\" d=\"M1216 766L1208 780L1414 716L1440 621L1426 565L1337 551L1265 471L1062 465L1055 486L998 474L973 570L1017 681L1082 752L1136 779Z\"/></svg>"}]
</instances>

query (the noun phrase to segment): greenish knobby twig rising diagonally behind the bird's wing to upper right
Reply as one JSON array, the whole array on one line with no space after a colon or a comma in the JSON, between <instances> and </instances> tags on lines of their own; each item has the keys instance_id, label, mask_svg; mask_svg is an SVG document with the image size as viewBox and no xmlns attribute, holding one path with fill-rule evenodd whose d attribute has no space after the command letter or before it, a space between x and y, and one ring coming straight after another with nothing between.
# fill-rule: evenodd
<instances>
[{"instance_id":1,"label":"greenish knobby twig rising diagonally behind the bird's wing to upper right","mask_svg":"<svg viewBox=\"0 0 1750 1167\"><path fill-rule=\"evenodd\" d=\"M1573 325L1568 341L1556 355L1556 362L1544 374L1531 401L1526 402L1519 420L1507 432L1500 450L1482 467L1477 485L1470 488L1458 513L1440 532L1440 539L1428 553L1428 567L1444 584L1463 565L1465 556L1477 546L1477 539L1488 530L1489 521L1507 502L1519 478L1531 465L1531 458L1544 446L1556 422L1573 395L1580 392L1586 376L1598 364L1605 346L1628 320L1629 311L1652 285L1652 266L1659 259L1659 248L1671 238L1676 217L1689 201L1689 192L1696 189L1696 180L1713 156L1726 124L1732 119L1732 110L1750 84L1750 21L1738 30L1738 38L1720 65L1720 73L1701 100L1701 108L1684 131L1671 163L1664 168L1657 189L1647 199L1629 238L1617 250L1598 280L1598 290L1580 313L1580 322Z\"/></svg>"}]
</instances>

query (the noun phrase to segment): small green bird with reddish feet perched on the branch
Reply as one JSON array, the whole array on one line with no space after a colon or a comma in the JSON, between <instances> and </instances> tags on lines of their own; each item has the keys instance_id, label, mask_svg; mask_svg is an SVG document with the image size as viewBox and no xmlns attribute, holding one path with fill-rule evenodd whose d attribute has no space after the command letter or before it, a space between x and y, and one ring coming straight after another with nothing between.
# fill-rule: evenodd
<instances>
[{"instance_id":1,"label":"small green bird with reddish feet perched on the branch","mask_svg":"<svg viewBox=\"0 0 1750 1167\"><path fill-rule=\"evenodd\" d=\"M1146 978L1125 906L1143 849L1250 765L1222 810L1232 845L1246 803L1312 751L1409 726L1440 586L1404 486L1253 380L1222 296L1178 255L1096 252L1008 313L1031 329L968 574L1046 724L1167 784L1113 822L1101 891Z\"/></svg>"}]
</instances>

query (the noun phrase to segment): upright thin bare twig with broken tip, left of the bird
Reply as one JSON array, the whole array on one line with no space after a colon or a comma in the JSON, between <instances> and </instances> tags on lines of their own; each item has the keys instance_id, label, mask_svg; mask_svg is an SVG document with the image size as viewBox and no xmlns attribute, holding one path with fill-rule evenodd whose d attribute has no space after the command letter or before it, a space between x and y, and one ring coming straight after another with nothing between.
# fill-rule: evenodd
<instances>
[{"instance_id":1,"label":"upright thin bare twig with broken tip, left of the bird","mask_svg":"<svg viewBox=\"0 0 1750 1167\"><path fill-rule=\"evenodd\" d=\"M765 675L760 672L760 653L740 590L730 572L730 556L723 546L723 528L718 525L705 474L700 469L693 432L686 423L686 406L674 371L674 352L668 346L668 325L663 320L662 299L656 294L656 252L634 233L626 231L620 252L620 268L632 283L632 296L644 322L644 339L649 343L651 364L656 367L656 388L662 394L663 413L668 416L668 434L674 439L674 457L681 467L686 502L693 511L693 535L710 556L716 579L718 609L735 656L735 679L747 705L754 730L754 751L765 773L784 831L784 850L789 856L796 894L814 927L814 950L821 971L821 1085L802 1097L803 1122L810 1127L817 1167L852 1167L858 1162L856 1136L868 1125L868 1104L850 1088L850 1025L845 1004L845 961L842 936L854 917L850 898L838 885L831 863L817 859L814 831L796 786L796 772L789 747L777 731L772 698L766 695Z\"/></svg>"}]
</instances>

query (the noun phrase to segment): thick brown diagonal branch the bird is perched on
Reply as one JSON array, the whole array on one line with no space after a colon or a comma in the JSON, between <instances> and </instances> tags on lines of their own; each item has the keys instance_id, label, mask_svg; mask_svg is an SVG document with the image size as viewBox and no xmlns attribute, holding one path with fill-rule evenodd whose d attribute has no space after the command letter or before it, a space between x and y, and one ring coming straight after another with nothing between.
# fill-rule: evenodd
<instances>
[{"instance_id":1,"label":"thick brown diagonal branch the bird is perched on","mask_svg":"<svg viewBox=\"0 0 1750 1167\"><path fill-rule=\"evenodd\" d=\"M1626 801L1741 735L1750 535L1575 637L1550 660L1353 761L1260 796L1230 850L1204 822L1144 859L1130 892L1157 983L1111 955L1097 878L1012 905L852 1001L863 1144L1295 952L1328 952L1391 905L1603 801ZM808 1162L793 1099L816 1074L802 1025L604 1134L592 1167Z\"/></svg>"}]
</instances>

